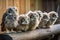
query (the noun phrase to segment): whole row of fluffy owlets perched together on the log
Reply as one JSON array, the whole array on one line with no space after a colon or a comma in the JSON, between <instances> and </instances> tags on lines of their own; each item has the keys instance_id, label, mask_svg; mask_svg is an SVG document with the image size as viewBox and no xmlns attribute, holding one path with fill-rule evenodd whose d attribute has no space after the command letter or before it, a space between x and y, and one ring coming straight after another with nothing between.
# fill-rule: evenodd
<instances>
[{"instance_id":1,"label":"whole row of fluffy owlets perched together on the log","mask_svg":"<svg viewBox=\"0 0 60 40\"><path fill-rule=\"evenodd\" d=\"M42 11L29 11L26 14L19 15L16 7L9 7L2 18L2 31L31 31L36 28L50 28L57 18L58 13L51 11L49 13Z\"/></svg>"}]
</instances>

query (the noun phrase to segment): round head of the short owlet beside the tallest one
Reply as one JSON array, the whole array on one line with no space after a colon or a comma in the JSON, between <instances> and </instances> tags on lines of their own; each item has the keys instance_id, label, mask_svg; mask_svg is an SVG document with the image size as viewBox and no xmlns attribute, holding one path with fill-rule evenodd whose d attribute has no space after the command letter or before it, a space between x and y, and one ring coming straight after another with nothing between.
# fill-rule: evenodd
<instances>
[{"instance_id":1,"label":"round head of the short owlet beside the tallest one","mask_svg":"<svg viewBox=\"0 0 60 40\"><path fill-rule=\"evenodd\" d=\"M22 14L22 15L19 16L18 23L20 25L28 25L29 21L30 21L30 19L27 15Z\"/></svg>"}]
</instances>

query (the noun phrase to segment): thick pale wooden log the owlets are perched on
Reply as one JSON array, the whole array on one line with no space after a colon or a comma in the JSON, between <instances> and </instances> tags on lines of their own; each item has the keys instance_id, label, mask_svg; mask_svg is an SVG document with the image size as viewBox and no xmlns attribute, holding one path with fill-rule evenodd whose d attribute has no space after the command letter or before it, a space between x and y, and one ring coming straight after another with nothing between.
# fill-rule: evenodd
<instances>
[{"instance_id":1,"label":"thick pale wooden log the owlets are perched on","mask_svg":"<svg viewBox=\"0 0 60 40\"><path fill-rule=\"evenodd\" d=\"M60 33L60 24L52 25L50 29L37 29L23 33L8 34L13 40L38 40Z\"/></svg>"}]
</instances>

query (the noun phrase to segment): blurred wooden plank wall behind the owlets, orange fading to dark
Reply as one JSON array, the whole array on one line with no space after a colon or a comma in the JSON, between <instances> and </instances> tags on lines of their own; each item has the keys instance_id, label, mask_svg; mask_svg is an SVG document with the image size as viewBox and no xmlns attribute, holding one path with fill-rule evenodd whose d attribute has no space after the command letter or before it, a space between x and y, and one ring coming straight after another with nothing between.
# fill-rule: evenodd
<instances>
[{"instance_id":1,"label":"blurred wooden plank wall behind the owlets, orange fading to dark","mask_svg":"<svg viewBox=\"0 0 60 40\"><path fill-rule=\"evenodd\" d=\"M29 10L56 11L60 17L60 0L0 0L0 24L4 12L10 6L16 6L19 14L25 14ZM60 23L60 18L58 18L56 23Z\"/></svg>"}]
</instances>

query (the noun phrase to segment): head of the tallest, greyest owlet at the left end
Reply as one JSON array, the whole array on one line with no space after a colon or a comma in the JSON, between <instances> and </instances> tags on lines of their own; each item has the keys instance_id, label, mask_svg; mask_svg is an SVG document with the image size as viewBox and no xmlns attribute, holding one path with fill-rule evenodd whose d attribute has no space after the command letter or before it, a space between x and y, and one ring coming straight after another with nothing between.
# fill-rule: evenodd
<instances>
[{"instance_id":1,"label":"head of the tallest, greyest owlet at the left end","mask_svg":"<svg viewBox=\"0 0 60 40\"><path fill-rule=\"evenodd\" d=\"M13 20L16 20L17 17L18 17L18 13L17 13L17 8L16 7L9 7L7 10L6 10L6 14L7 14L7 17L8 19L13 19Z\"/></svg>"}]
</instances>

